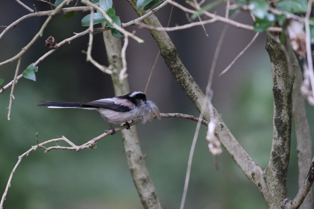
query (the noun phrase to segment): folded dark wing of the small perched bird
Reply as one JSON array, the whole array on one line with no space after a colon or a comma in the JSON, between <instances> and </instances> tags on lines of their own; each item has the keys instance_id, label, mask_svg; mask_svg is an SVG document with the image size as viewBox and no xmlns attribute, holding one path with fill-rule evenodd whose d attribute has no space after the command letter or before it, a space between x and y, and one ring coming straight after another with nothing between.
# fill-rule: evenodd
<instances>
[{"instance_id":1,"label":"folded dark wing of the small perched bird","mask_svg":"<svg viewBox=\"0 0 314 209\"><path fill-rule=\"evenodd\" d=\"M125 105L121 104L116 104L114 99L108 98L108 99L98 99L96 101L88 102L88 103L83 103L81 105L82 107L84 106L94 106L94 107L102 107L106 108L109 110L114 110L117 112L129 112L131 111L130 107L127 107Z\"/></svg>"}]
</instances>

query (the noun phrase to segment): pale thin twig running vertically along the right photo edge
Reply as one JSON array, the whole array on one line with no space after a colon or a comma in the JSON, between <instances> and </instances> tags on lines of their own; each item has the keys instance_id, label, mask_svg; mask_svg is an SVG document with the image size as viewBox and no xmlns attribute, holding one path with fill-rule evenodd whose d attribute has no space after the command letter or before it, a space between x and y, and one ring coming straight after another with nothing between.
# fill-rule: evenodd
<instances>
[{"instance_id":1,"label":"pale thin twig running vertically along the right photo edge","mask_svg":"<svg viewBox=\"0 0 314 209\"><path fill-rule=\"evenodd\" d=\"M312 95L314 97L314 72L313 72L313 60L312 60L312 51L311 51L311 34L310 34L310 25L309 25L309 18L312 10L312 0L308 1L307 4L307 11L304 18L305 24L305 36L306 36L306 59L307 59L307 66L308 72L311 81L311 89Z\"/></svg>"}]
</instances>

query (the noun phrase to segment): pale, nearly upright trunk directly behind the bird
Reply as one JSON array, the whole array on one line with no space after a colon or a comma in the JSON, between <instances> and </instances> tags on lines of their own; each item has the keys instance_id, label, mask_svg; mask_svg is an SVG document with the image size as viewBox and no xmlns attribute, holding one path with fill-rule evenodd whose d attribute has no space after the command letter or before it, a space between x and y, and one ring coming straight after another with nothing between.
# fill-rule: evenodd
<instances>
[{"instance_id":1,"label":"pale, nearly upright trunk directly behind the bird","mask_svg":"<svg viewBox=\"0 0 314 209\"><path fill-rule=\"evenodd\" d=\"M102 23L102 25L104 24ZM119 74L123 68L121 39L113 37L109 31L103 32L103 36L108 62L113 67L111 78L115 95L127 94L130 91L128 79L124 79L122 82L119 80ZM127 164L143 207L145 209L162 209L154 184L145 165L145 157L141 151L136 127L131 127L130 130L123 130L122 140Z\"/></svg>"}]
</instances>

